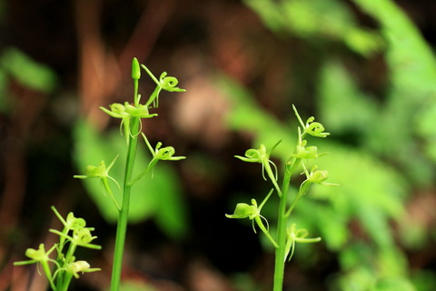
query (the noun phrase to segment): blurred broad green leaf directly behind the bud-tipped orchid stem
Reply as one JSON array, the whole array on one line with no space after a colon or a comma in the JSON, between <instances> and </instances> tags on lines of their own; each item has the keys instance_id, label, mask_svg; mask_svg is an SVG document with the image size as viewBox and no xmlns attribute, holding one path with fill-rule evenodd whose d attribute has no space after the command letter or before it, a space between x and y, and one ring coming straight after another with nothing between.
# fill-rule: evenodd
<instances>
[{"instance_id":1,"label":"blurred broad green leaf directly behind the bud-tipped orchid stem","mask_svg":"<svg viewBox=\"0 0 436 291\"><path fill-rule=\"evenodd\" d=\"M118 130L107 135L97 133L91 125L83 121L74 128L74 161L80 171L88 165L97 165L104 160L109 163L114 156L120 155L109 175L122 186L124 178L125 140ZM139 172L148 165L145 146L138 145L135 169ZM172 167L158 164L154 168L154 177L150 175L139 180L132 187L129 221L139 222L154 217L161 229L173 238L180 238L187 230L185 205L180 196L180 182ZM107 221L115 222L118 210L97 179L82 180L88 194L100 209ZM112 183L112 182L110 182ZM122 190L112 184L114 196L121 205Z\"/></svg>"}]
</instances>

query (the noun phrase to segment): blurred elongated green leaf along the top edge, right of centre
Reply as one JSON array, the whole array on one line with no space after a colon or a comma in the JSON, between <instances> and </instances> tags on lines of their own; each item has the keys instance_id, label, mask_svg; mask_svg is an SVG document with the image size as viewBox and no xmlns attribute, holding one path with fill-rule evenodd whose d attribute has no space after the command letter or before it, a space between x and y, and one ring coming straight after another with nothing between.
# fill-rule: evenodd
<instances>
[{"instance_id":1,"label":"blurred elongated green leaf along the top edge, right of centre","mask_svg":"<svg viewBox=\"0 0 436 291\"><path fill-rule=\"evenodd\" d=\"M245 0L265 25L279 35L342 41L361 55L372 55L383 47L377 32L359 27L349 7L337 0Z\"/></svg>"}]
</instances>

